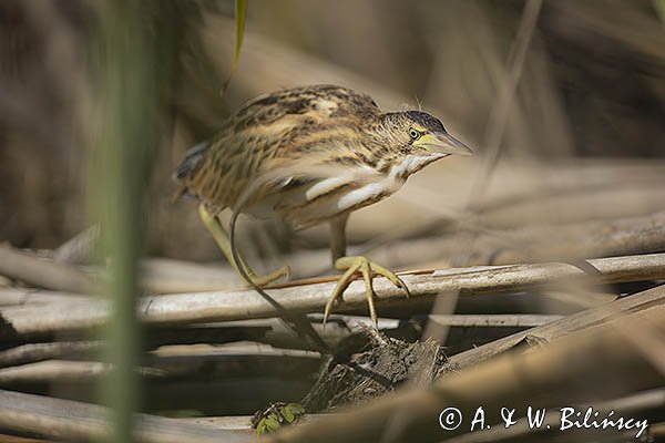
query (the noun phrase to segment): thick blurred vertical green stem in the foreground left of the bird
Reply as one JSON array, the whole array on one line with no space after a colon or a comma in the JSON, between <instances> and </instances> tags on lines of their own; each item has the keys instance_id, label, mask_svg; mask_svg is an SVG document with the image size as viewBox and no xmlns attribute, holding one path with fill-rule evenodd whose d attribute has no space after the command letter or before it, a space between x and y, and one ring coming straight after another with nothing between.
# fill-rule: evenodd
<instances>
[{"instance_id":1,"label":"thick blurred vertical green stem in the foreground left of the bird","mask_svg":"<svg viewBox=\"0 0 665 443\"><path fill-rule=\"evenodd\" d=\"M93 69L96 110L91 137L89 177L91 207L102 226L102 254L108 258L104 292L112 317L104 330L106 361L113 371L103 380L103 403L111 410L109 440L132 441L132 414L140 401L134 370L141 348L136 322L136 261L142 245L143 195L150 169L150 146L156 144L157 82L154 28L149 4L100 1Z\"/></svg>"}]
</instances>

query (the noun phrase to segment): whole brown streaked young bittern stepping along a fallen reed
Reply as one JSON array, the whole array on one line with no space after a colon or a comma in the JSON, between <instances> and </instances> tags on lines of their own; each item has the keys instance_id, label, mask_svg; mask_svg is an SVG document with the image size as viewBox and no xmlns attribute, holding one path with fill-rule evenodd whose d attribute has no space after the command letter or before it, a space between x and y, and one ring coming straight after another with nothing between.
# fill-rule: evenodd
<instances>
[{"instance_id":1,"label":"whole brown streaked young bittern stepping along a fallen reed","mask_svg":"<svg viewBox=\"0 0 665 443\"><path fill-rule=\"evenodd\" d=\"M409 175L451 154L471 155L434 116L421 111L381 113L369 95L335 85L278 91L241 107L208 142L192 147L175 172L181 193L197 196L201 217L217 245L239 271L258 286L288 271L258 277L233 258L228 236L216 215L234 212L263 217L276 213L297 227L330 226L337 269L346 270L325 310L356 274L366 285L372 320L372 278L387 277L408 289L390 270L362 256L346 257L349 214L379 202ZM211 210L213 209L214 210ZM325 321L324 320L324 321Z\"/></svg>"}]
</instances>

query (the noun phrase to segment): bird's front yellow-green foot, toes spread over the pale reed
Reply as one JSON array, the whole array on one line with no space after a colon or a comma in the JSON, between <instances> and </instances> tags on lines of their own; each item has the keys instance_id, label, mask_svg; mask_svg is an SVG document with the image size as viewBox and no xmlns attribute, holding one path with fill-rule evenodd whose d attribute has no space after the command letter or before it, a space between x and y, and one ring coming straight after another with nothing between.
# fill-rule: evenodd
<instances>
[{"instance_id":1,"label":"bird's front yellow-green foot, toes spread over the pale reed","mask_svg":"<svg viewBox=\"0 0 665 443\"><path fill-rule=\"evenodd\" d=\"M337 281L337 286L335 287L330 299L328 299L328 302L326 303L326 310L324 311L324 324L326 324L326 321L330 317L332 305L341 296L341 293L346 290L350 282L354 281L355 275L357 272L361 274L362 280L365 280L365 295L367 297L367 305L369 306L369 316L371 317L375 327L378 327L378 317L374 305L375 291L372 287L372 279L376 276L386 277L388 280L392 281L395 286L403 289L405 292L407 292L407 297L410 296L409 288L407 288L407 285L405 285L401 278L399 278L390 269L387 269L381 265L377 265L376 262L370 261L367 257L341 257L335 261L335 267L340 270L346 269L346 271Z\"/></svg>"}]
</instances>

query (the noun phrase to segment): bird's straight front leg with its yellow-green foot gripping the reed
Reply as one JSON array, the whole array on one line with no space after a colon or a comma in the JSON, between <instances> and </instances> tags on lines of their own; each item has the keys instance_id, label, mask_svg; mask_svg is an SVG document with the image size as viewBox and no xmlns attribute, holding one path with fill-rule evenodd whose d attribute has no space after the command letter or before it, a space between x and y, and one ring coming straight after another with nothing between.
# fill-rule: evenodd
<instances>
[{"instance_id":1,"label":"bird's straight front leg with its yellow-green foot gripping the reed","mask_svg":"<svg viewBox=\"0 0 665 443\"><path fill-rule=\"evenodd\" d=\"M341 296L346 288L348 288L350 282L354 281L356 274L359 272L362 275L362 280L365 281L365 295L367 297L367 305L369 306L369 316L371 317L375 326L378 326L377 311L374 303L375 291L372 287L372 279L376 276L386 277L388 280L392 281L395 286L402 288L407 292L407 297L410 296L409 288L407 288L407 285L405 285L405 282L390 269L371 261L367 257L346 257L347 219L348 215L344 215L330 222L330 251L332 253L332 264L335 265L335 268L345 270L345 272L337 281L337 286L326 303L326 309L324 311L324 324L328 320L328 317L330 317L335 301Z\"/></svg>"}]
</instances>

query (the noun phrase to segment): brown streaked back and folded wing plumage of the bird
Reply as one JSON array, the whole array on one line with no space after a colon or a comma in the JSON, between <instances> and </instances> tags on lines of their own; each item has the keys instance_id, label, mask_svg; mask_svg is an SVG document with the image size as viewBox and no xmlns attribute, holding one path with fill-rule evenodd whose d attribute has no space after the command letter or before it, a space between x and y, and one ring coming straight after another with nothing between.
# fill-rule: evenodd
<instances>
[{"instance_id":1,"label":"brown streaked back and folded wing plumage of the bird","mask_svg":"<svg viewBox=\"0 0 665 443\"><path fill-rule=\"evenodd\" d=\"M177 177L201 199L235 206L258 176L290 164L304 166L303 157L319 157L314 162L318 164L357 164L350 143L358 134L351 127L379 113L369 95L335 85L259 96L225 122L203 155L193 148Z\"/></svg>"}]
</instances>

